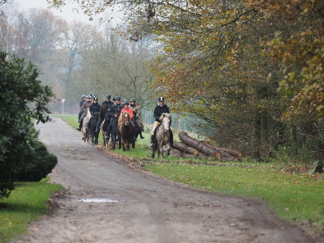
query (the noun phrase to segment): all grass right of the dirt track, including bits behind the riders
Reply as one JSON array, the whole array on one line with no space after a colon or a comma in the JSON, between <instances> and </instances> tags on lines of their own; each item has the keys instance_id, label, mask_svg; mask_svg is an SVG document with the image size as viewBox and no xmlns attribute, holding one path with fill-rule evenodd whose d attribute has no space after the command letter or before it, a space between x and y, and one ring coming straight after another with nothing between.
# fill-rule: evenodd
<instances>
[{"instance_id":1,"label":"all grass right of the dirt track, including bits behind the riders","mask_svg":"<svg viewBox=\"0 0 324 243\"><path fill-rule=\"evenodd\" d=\"M76 116L62 118L73 128L77 127ZM284 173L282 162L260 163L248 158L243 162L172 155L163 161L152 159L149 133L144 136L145 139L137 139L136 149L125 152L116 149L114 153L133 158L147 170L192 188L265 201L278 217L290 222L308 221L315 230L324 231L324 174ZM175 140L179 141L178 137Z\"/></svg>"}]
</instances>

